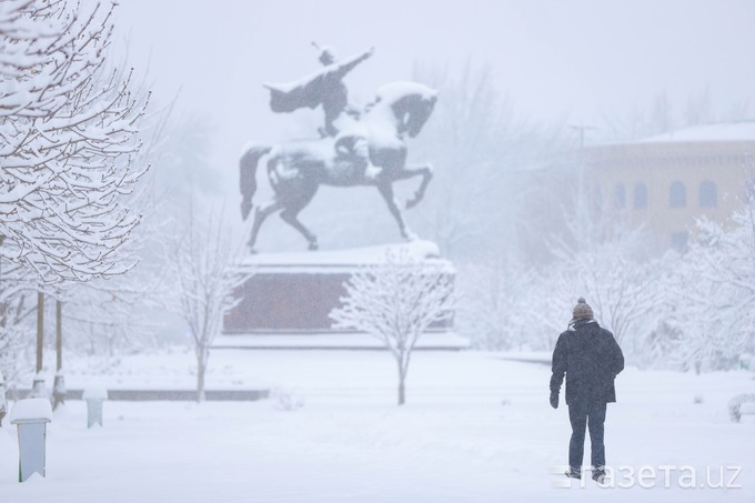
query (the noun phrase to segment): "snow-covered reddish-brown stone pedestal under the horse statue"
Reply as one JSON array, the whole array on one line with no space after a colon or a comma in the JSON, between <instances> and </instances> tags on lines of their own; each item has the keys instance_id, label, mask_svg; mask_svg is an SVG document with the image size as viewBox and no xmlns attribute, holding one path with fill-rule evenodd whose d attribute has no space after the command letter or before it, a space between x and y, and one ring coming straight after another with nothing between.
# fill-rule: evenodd
<instances>
[{"instance_id":1,"label":"snow-covered reddish-brown stone pedestal under the horse statue","mask_svg":"<svg viewBox=\"0 0 755 503\"><path fill-rule=\"evenodd\" d=\"M381 263L387 249L400 248L415 260L442 261L437 245L429 241L250 255L241 266L253 275L235 292L241 301L226 313L223 334L213 348L382 349L378 339L333 329L329 314L341 305L340 299L346 295L344 284L355 270ZM416 348L459 350L467 345L454 333L450 320L431 325Z\"/></svg>"}]
</instances>

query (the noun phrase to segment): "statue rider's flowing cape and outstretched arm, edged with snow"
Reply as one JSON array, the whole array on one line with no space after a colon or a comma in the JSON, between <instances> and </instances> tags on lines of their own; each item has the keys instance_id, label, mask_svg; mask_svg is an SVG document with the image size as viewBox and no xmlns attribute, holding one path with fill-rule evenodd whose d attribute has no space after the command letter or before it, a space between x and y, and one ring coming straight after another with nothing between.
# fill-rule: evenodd
<instances>
[{"instance_id":1,"label":"statue rider's flowing cape and outstretched arm, edged with snow","mask_svg":"<svg viewBox=\"0 0 755 503\"><path fill-rule=\"evenodd\" d=\"M330 94L330 90L341 83L341 79L360 61L364 54L348 58L339 63L329 64L315 73L310 73L293 82L264 83L270 89L270 108L273 112L293 112L301 108L315 108Z\"/></svg>"}]
</instances>

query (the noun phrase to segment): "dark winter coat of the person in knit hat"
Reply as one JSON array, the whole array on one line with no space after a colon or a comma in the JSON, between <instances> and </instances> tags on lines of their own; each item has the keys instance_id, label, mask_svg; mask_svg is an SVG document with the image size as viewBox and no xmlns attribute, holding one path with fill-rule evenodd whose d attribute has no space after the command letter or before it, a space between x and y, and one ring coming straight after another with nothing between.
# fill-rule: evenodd
<instances>
[{"instance_id":1,"label":"dark winter coat of the person in knit hat","mask_svg":"<svg viewBox=\"0 0 755 503\"><path fill-rule=\"evenodd\" d=\"M566 375L566 404L616 401L614 379L624 370L624 354L613 333L595 320L581 320L558 335L553 350L551 393Z\"/></svg>"}]
</instances>

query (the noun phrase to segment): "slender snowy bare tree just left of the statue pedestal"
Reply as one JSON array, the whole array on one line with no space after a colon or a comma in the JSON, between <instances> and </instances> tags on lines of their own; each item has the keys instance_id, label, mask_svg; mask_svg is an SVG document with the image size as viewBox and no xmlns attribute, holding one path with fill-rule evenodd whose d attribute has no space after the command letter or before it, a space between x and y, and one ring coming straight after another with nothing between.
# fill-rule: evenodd
<instances>
[{"instance_id":1,"label":"slender snowy bare tree just left of the statue pedestal","mask_svg":"<svg viewBox=\"0 0 755 503\"><path fill-rule=\"evenodd\" d=\"M173 309L189 325L194 344L198 401L204 399L210 348L221 331L223 315L241 301L234 298L234 290L249 278L238 268L241 242L222 212L200 223L190 210L181 233L167 250L168 268L175 282Z\"/></svg>"}]
</instances>

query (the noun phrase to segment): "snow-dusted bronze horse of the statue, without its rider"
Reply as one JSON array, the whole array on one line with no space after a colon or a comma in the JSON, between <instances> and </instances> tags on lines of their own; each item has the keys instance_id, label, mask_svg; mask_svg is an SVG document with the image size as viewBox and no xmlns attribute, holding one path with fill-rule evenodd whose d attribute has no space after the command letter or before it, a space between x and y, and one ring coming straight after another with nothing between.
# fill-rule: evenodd
<instances>
[{"instance_id":1,"label":"snow-dusted bronze horse of the statue, without its rider","mask_svg":"<svg viewBox=\"0 0 755 503\"><path fill-rule=\"evenodd\" d=\"M362 114L350 127L342 128L335 138L248 147L239 161L242 218L246 220L252 210L256 167L265 155L268 179L274 192L270 201L254 210L249 240L252 252L262 223L276 211L281 211L283 221L306 239L310 250L316 250L318 238L296 217L312 201L321 184L374 185L387 203L401 235L413 239L395 201L393 182L422 177L422 183L406 208L422 200L432 178L432 167L406 165L404 137L414 138L420 133L436 100L437 92L426 85L394 82L381 87Z\"/></svg>"}]
</instances>

